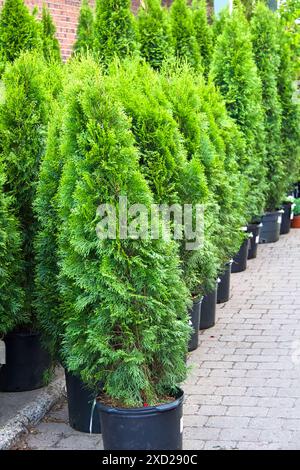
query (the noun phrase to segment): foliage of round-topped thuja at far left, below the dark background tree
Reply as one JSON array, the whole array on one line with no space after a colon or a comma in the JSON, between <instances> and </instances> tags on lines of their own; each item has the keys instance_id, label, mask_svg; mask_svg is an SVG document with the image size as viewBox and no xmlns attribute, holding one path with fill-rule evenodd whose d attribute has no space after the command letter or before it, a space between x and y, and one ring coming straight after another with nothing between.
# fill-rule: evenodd
<instances>
[{"instance_id":1,"label":"foliage of round-topped thuja at far left, below the dark background tree","mask_svg":"<svg viewBox=\"0 0 300 470\"><path fill-rule=\"evenodd\" d=\"M49 93L44 61L26 52L3 75L5 97L0 106L0 162L5 165L5 191L13 198L13 210L22 232L25 311L33 314L33 239L36 218L33 200L39 163L44 153Z\"/></svg>"}]
</instances>

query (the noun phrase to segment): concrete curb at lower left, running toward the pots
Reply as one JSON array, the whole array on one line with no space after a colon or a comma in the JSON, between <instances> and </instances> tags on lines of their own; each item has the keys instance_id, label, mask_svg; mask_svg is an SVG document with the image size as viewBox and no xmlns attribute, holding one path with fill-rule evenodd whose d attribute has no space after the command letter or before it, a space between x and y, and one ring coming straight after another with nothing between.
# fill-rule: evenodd
<instances>
[{"instance_id":1,"label":"concrete curb at lower left, running toward the pots","mask_svg":"<svg viewBox=\"0 0 300 470\"><path fill-rule=\"evenodd\" d=\"M50 385L41 389L34 400L0 428L0 450L9 449L22 434L27 432L29 425L38 423L63 396L64 391L64 377L55 379Z\"/></svg>"}]
</instances>

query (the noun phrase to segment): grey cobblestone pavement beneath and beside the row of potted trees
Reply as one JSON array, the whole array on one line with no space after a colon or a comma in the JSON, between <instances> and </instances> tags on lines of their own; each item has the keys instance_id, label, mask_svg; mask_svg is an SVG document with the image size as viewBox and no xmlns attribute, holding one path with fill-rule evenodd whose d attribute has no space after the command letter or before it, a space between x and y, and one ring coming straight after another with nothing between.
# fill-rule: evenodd
<instances>
[{"instance_id":1,"label":"grey cobblestone pavement beneath and beside the row of potted trees","mask_svg":"<svg viewBox=\"0 0 300 470\"><path fill-rule=\"evenodd\" d=\"M300 230L259 247L200 335L185 385L185 449L300 449ZM101 449L61 402L16 446Z\"/></svg>"}]
</instances>

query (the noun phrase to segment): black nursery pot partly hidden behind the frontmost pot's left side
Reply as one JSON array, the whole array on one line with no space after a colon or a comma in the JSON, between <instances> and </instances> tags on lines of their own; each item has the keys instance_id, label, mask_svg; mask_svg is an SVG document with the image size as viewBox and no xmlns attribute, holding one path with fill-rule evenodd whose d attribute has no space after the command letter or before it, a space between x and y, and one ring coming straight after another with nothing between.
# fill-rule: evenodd
<instances>
[{"instance_id":1,"label":"black nursery pot partly hidden behind the frontmost pot's left side","mask_svg":"<svg viewBox=\"0 0 300 470\"><path fill-rule=\"evenodd\" d=\"M79 377L65 370L69 424L76 431L100 434L99 414L94 406L95 394L88 390Z\"/></svg>"}]
</instances>

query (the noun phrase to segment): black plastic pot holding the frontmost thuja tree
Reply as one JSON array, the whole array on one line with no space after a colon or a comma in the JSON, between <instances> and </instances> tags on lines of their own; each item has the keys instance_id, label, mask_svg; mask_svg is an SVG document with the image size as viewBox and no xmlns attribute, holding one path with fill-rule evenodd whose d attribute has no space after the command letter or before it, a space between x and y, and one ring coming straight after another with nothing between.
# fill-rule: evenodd
<instances>
[{"instance_id":1,"label":"black plastic pot holding the frontmost thuja tree","mask_svg":"<svg viewBox=\"0 0 300 470\"><path fill-rule=\"evenodd\" d=\"M98 402L104 450L182 450L183 398L136 409Z\"/></svg>"}]
</instances>

